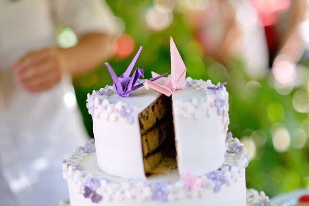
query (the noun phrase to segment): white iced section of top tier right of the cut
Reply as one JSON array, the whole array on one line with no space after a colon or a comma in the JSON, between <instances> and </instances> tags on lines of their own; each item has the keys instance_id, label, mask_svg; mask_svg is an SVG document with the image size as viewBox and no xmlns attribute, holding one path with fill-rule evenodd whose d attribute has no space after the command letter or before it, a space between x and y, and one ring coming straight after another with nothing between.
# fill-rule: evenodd
<instances>
[{"instance_id":1,"label":"white iced section of top tier right of the cut","mask_svg":"<svg viewBox=\"0 0 309 206\"><path fill-rule=\"evenodd\" d=\"M192 81L187 78L187 84ZM210 80L199 80L172 94L177 165L181 175L199 176L219 169L224 162L229 95L225 87L217 96L208 94L207 86L215 85ZM215 106L216 98L226 102L220 112Z\"/></svg>"}]
</instances>

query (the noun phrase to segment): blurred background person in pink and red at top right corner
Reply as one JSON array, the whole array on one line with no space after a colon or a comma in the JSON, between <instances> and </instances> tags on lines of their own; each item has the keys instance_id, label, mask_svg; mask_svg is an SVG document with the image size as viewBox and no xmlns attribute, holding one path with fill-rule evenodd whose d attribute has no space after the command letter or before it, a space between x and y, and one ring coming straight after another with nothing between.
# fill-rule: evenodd
<instances>
[{"instance_id":1,"label":"blurred background person in pink and red at top right corner","mask_svg":"<svg viewBox=\"0 0 309 206\"><path fill-rule=\"evenodd\" d=\"M295 65L306 50L300 24L308 13L308 0L251 0L265 29L269 67Z\"/></svg>"}]
</instances>

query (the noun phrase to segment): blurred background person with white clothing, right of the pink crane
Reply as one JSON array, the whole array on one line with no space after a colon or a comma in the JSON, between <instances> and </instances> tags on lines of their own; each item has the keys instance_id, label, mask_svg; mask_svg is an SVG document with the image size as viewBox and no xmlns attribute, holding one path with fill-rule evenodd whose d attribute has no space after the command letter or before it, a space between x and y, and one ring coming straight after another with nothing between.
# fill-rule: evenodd
<instances>
[{"instance_id":1,"label":"blurred background person with white clothing, right of the pink crane","mask_svg":"<svg viewBox=\"0 0 309 206\"><path fill-rule=\"evenodd\" d=\"M189 12L188 18L204 54L224 65L239 59L251 77L263 77L268 52L255 9L247 0L207 2L204 9Z\"/></svg>"}]
</instances>

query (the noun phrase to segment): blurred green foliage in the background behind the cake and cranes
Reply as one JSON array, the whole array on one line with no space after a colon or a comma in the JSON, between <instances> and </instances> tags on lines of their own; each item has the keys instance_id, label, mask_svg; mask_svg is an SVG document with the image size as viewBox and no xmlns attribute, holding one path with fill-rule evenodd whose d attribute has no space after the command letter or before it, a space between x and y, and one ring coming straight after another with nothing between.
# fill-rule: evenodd
<instances>
[{"instance_id":1,"label":"blurred green foliage in the background behind the cake and cranes","mask_svg":"<svg viewBox=\"0 0 309 206\"><path fill-rule=\"evenodd\" d=\"M253 131L262 130L267 135L266 143L257 148L256 157L246 171L248 188L264 190L270 197L293 189L309 187L309 116L297 112L292 105L292 97L298 90L308 92L308 85L294 88L288 95L280 95L270 84L270 76L254 81L254 95L244 95L246 83L252 81L244 72L240 61L231 59L225 67L204 56L201 46L193 38L190 25L184 23L181 13L174 13L173 23L162 32L153 32L145 24L145 8L152 5L151 0L107 0L115 15L125 24L125 33L135 40L135 50L125 60L109 60L121 74L130 64L137 48L143 51L137 65L145 70L145 77L150 78L150 71L164 73L170 70L169 37L173 36L178 50L187 66L187 76L193 79L211 79L213 82L228 81L230 93L230 131L234 137L250 137ZM302 63L308 68L307 61ZM87 93L94 89L112 84L105 67L100 66L93 72L74 79L77 102L83 114L84 123L92 134L91 116L85 107ZM250 92L250 91L249 91ZM292 133L295 128L306 131L305 147L296 149L292 146L285 152L277 152L272 144L271 127L274 123L283 124ZM293 139L292 139L293 143Z\"/></svg>"}]
</instances>

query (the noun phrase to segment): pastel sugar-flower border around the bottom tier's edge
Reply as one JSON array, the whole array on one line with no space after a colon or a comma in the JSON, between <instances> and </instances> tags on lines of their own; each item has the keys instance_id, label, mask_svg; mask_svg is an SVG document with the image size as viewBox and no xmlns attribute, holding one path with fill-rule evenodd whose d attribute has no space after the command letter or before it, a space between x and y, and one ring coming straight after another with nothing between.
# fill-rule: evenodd
<instances>
[{"instance_id":1,"label":"pastel sugar-flower border around the bottom tier's edge","mask_svg":"<svg viewBox=\"0 0 309 206\"><path fill-rule=\"evenodd\" d=\"M147 183L139 180L113 182L110 179L97 179L89 171L83 171L80 163L95 152L94 139L90 139L83 147L77 147L63 161L63 177L80 194L92 203L123 201L135 199L138 202L162 201L170 202L186 197L204 197L209 192L220 192L222 186L231 185L245 176L248 166L247 149L232 133L226 138L226 157L222 167L214 172L194 177L183 174L178 181Z\"/></svg>"}]
</instances>

